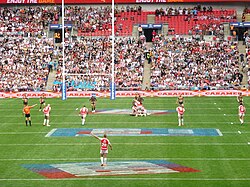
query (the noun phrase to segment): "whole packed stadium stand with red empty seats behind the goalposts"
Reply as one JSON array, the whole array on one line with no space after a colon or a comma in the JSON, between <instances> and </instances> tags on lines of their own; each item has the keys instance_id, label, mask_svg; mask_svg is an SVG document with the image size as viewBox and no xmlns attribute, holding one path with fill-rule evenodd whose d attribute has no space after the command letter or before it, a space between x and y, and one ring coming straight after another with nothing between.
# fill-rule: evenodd
<instances>
[{"instance_id":1,"label":"whole packed stadium stand with red empty seats behind the goalposts","mask_svg":"<svg viewBox=\"0 0 250 187\"><path fill-rule=\"evenodd\" d=\"M0 90L60 91L62 45L51 25L62 9L50 6L0 8ZM108 90L112 62L112 10L108 5L67 5L65 70L68 90ZM242 89L250 83L250 37L229 23L247 22L247 7L210 5L115 7L115 83L118 90ZM147 40L146 30L154 30ZM240 20L241 21L241 20ZM232 26L232 27L231 27ZM145 32L144 32L145 31ZM149 68L145 68L145 66ZM48 78L53 75L52 78ZM48 87L48 82L53 86Z\"/></svg>"}]
</instances>

